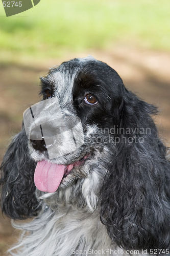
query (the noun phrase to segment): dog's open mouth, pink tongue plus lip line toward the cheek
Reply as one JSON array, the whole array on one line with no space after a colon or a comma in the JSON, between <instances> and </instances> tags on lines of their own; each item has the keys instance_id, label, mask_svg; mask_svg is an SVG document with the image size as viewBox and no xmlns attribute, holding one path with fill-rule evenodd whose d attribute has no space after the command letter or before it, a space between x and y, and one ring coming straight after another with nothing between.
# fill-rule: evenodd
<instances>
[{"instance_id":1,"label":"dog's open mouth, pink tongue plus lip line toward the cheek","mask_svg":"<svg viewBox=\"0 0 170 256\"><path fill-rule=\"evenodd\" d=\"M89 155L84 156L81 160L68 164L56 164L48 161L40 161L37 163L34 173L34 183L36 187L44 192L54 193L62 182L75 167L84 164Z\"/></svg>"}]
</instances>

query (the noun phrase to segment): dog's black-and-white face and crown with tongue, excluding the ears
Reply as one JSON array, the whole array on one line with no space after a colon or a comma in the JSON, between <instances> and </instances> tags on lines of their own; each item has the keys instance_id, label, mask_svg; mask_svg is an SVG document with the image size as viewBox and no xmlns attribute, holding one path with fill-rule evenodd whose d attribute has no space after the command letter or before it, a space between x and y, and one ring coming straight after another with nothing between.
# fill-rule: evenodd
<instances>
[{"instance_id":1,"label":"dog's black-and-white face and crown with tongue, excluding the ears","mask_svg":"<svg viewBox=\"0 0 170 256\"><path fill-rule=\"evenodd\" d=\"M87 177L97 152L113 151L109 130L120 123L126 89L112 68L92 57L51 69L41 86L43 101L23 117L31 157L38 162L35 184L55 192L59 184Z\"/></svg>"}]
</instances>

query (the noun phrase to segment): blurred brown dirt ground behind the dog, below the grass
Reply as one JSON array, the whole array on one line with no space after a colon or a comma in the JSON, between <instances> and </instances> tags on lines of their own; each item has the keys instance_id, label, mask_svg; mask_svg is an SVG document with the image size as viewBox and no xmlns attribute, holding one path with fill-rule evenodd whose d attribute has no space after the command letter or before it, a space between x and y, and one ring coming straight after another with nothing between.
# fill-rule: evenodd
<instances>
[{"instance_id":1,"label":"blurred brown dirt ground behind the dog, below the grass","mask_svg":"<svg viewBox=\"0 0 170 256\"><path fill-rule=\"evenodd\" d=\"M0 63L0 162L11 141L21 128L22 113L28 106L39 101L39 76L48 68L62 61L92 55L107 62L123 78L125 86L141 99L159 106L155 117L160 136L170 146L170 54L117 47L111 51L89 50L81 54L69 54L63 59L43 63ZM0 215L0 256L5 256L9 245L14 243L17 232L10 220Z\"/></svg>"}]
</instances>

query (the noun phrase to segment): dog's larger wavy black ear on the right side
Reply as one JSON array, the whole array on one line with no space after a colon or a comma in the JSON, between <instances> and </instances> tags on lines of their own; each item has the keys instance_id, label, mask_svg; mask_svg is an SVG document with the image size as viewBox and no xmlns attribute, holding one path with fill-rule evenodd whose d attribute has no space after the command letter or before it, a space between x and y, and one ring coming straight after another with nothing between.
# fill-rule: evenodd
<instances>
[{"instance_id":1,"label":"dog's larger wavy black ear on the right side","mask_svg":"<svg viewBox=\"0 0 170 256\"><path fill-rule=\"evenodd\" d=\"M157 110L129 91L120 108L115 157L101 193L101 221L120 247L167 249L170 163L151 118Z\"/></svg>"}]
</instances>

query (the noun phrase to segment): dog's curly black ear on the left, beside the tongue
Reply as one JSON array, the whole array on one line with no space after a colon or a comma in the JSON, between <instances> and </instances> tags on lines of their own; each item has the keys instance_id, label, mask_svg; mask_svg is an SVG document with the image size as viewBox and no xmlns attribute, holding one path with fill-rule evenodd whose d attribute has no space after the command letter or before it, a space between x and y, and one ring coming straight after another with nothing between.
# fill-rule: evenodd
<instances>
[{"instance_id":1,"label":"dog's curly black ear on the left, beside the tongue","mask_svg":"<svg viewBox=\"0 0 170 256\"><path fill-rule=\"evenodd\" d=\"M36 162L29 157L25 129L17 134L1 165L1 207L12 219L26 219L36 215L39 208L34 195Z\"/></svg>"}]
</instances>

